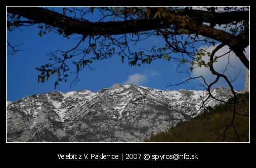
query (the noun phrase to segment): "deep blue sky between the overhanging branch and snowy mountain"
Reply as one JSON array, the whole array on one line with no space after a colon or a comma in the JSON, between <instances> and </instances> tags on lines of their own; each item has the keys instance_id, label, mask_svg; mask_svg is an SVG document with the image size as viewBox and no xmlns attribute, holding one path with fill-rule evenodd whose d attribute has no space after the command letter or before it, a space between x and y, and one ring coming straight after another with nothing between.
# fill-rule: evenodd
<instances>
[{"instance_id":1,"label":"deep blue sky between the overhanging branch and snowy mountain","mask_svg":"<svg viewBox=\"0 0 256 168\"><path fill-rule=\"evenodd\" d=\"M21 31L22 30L22 31ZM193 80L187 84L177 87L168 87L166 84L178 83L187 78L187 74L181 74L175 71L178 63L174 61L166 61L164 59L155 60L150 65L143 64L142 66L129 66L127 61L121 62L121 57L114 55L109 59L95 61L90 68L84 68L79 73L79 82L70 88L70 83L74 79L74 74L69 74L67 82L61 82L57 89L54 89L55 77L50 77L45 83L38 83L38 72L36 67L42 64L47 64L49 57L46 53L58 49L67 50L73 48L77 40L67 40L55 33L49 33L39 37L39 32L36 26L25 27L14 32L7 32L7 39L13 45L23 43L20 48L26 49L14 55L7 55L7 100L15 101L31 94L39 94L46 92L69 92L76 90L91 90L97 92L100 89L108 88L114 83L133 83L135 85L161 89L161 90L178 90L191 89L192 87L199 88L199 81ZM151 48L153 45L162 45L163 40L159 37L153 37L136 44L132 49ZM200 48L202 46L198 46ZM225 49L224 49L225 50ZM232 57L233 56L233 57ZM232 76L241 73L233 83L236 90L242 90L244 87L244 72L245 67L236 59L236 56L231 55L235 68L229 68L228 75ZM221 62L221 61L220 61ZM225 61L223 61L224 63ZM232 63L232 62L231 62ZM189 67L188 65L185 65ZM186 67L185 67L186 68ZM207 80L212 80L212 75L207 72L207 69L197 69L193 75L203 74ZM221 81L217 86L227 86L224 81Z\"/></svg>"}]
</instances>

